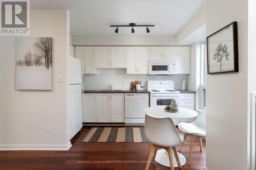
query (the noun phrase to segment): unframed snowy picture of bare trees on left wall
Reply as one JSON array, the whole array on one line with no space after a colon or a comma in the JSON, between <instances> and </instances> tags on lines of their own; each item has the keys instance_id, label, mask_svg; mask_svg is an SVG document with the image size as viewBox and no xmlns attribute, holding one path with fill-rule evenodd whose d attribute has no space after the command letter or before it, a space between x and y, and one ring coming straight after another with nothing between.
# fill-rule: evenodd
<instances>
[{"instance_id":1,"label":"unframed snowy picture of bare trees on left wall","mask_svg":"<svg viewBox=\"0 0 256 170\"><path fill-rule=\"evenodd\" d=\"M52 38L16 38L16 89L52 90Z\"/></svg>"}]
</instances>

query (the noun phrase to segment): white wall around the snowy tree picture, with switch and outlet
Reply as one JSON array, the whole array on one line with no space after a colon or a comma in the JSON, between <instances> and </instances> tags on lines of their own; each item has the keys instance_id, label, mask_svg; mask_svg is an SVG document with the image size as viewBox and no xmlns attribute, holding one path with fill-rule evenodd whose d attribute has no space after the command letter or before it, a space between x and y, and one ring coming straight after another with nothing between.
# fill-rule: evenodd
<instances>
[{"instance_id":1,"label":"white wall around the snowy tree picture, with switch and outlet","mask_svg":"<svg viewBox=\"0 0 256 170\"><path fill-rule=\"evenodd\" d=\"M67 10L31 10L30 37L53 38L53 90L15 90L15 37L0 38L0 150L68 149ZM68 33L67 33L68 32ZM61 75L65 83L56 83ZM51 132L46 132L51 125Z\"/></svg>"}]
</instances>

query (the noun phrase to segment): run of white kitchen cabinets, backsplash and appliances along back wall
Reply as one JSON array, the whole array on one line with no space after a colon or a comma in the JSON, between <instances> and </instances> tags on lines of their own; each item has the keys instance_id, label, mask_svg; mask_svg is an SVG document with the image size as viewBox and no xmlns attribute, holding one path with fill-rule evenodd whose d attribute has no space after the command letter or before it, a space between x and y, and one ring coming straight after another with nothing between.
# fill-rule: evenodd
<instances>
[{"instance_id":1,"label":"run of white kitchen cabinets, backsplash and appliances along back wall","mask_svg":"<svg viewBox=\"0 0 256 170\"><path fill-rule=\"evenodd\" d=\"M71 54L83 65L84 125L144 124L144 108L170 105L172 99L180 107L195 109L196 92L186 87L190 46L71 46L71 49L74 49ZM131 85L135 80L142 82L136 88ZM175 119L174 123L178 126L194 120Z\"/></svg>"}]
</instances>

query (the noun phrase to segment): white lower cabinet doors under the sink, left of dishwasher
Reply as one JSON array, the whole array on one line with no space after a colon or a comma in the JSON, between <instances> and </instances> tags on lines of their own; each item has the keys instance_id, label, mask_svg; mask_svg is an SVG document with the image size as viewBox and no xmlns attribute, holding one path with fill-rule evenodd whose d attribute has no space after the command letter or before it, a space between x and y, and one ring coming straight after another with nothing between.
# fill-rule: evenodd
<instances>
[{"instance_id":1,"label":"white lower cabinet doors under the sink, left of dishwasher","mask_svg":"<svg viewBox=\"0 0 256 170\"><path fill-rule=\"evenodd\" d=\"M124 123L124 93L84 93L84 123Z\"/></svg>"}]
</instances>

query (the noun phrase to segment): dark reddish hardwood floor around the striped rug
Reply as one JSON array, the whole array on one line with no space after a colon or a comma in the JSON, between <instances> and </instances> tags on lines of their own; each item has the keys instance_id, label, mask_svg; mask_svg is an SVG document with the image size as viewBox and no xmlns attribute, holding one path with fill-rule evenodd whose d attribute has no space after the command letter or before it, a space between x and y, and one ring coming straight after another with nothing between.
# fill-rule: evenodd
<instances>
[{"instance_id":1,"label":"dark reddish hardwood floor around the striped rug","mask_svg":"<svg viewBox=\"0 0 256 170\"><path fill-rule=\"evenodd\" d=\"M69 151L0 151L0 169L15 170L58 170L58 169L144 169L150 152L151 143L85 143L81 139L91 127L83 127L72 139ZM179 131L179 133L181 133ZM188 158L189 141L187 138L182 154ZM178 150L178 147L177 147ZM141 163L142 162L142 163ZM205 140L200 152L198 138L195 140L191 165L185 164L183 170L203 170L205 167ZM151 163L150 169L169 169ZM178 169L178 168L175 168Z\"/></svg>"}]
</instances>

